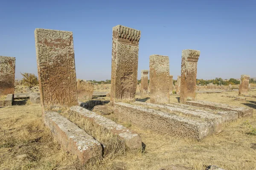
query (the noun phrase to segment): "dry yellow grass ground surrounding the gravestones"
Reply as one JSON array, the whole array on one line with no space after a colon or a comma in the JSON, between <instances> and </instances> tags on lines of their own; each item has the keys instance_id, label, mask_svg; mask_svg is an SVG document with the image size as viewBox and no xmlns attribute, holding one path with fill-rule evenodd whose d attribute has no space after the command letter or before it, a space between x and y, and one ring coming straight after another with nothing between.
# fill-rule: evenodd
<instances>
[{"instance_id":1,"label":"dry yellow grass ground surrounding the gravestones","mask_svg":"<svg viewBox=\"0 0 256 170\"><path fill-rule=\"evenodd\" d=\"M104 90L109 89L97 91ZM256 89L248 94L256 95ZM163 136L119 122L140 134L145 151L103 159L101 164L90 165L87 169L158 170L166 165L181 164L204 170L214 164L226 170L256 170L256 99L240 102L228 96L238 96L238 91L196 94L196 99L253 108L253 118L227 123L221 133L201 142ZM171 95L170 102L177 102L177 97ZM108 117L116 121L115 115ZM15 101L14 106L0 108L0 169L81 170L86 167L81 167L76 157L64 152L52 138L42 123L41 106L23 99Z\"/></svg>"}]
</instances>

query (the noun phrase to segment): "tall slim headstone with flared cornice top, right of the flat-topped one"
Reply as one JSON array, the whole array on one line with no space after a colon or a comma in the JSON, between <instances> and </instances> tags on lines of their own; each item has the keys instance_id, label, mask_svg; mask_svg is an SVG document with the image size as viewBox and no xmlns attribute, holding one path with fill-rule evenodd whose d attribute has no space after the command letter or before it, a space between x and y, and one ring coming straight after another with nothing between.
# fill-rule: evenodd
<instances>
[{"instance_id":1,"label":"tall slim headstone with flared cornice top, right of the flat-topped one","mask_svg":"<svg viewBox=\"0 0 256 170\"><path fill-rule=\"evenodd\" d=\"M182 50L180 102L195 99L198 50Z\"/></svg>"}]
</instances>

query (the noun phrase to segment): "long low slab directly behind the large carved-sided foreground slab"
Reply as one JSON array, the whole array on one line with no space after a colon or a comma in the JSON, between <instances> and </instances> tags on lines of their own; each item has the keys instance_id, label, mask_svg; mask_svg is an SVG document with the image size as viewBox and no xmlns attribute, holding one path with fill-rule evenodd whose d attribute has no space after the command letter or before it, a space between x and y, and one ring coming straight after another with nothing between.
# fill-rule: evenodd
<instances>
[{"instance_id":1,"label":"long low slab directly behind the large carved-sided foreground slab","mask_svg":"<svg viewBox=\"0 0 256 170\"><path fill-rule=\"evenodd\" d=\"M192 111L192 110L186 110L183 108L175 108L175 107L170 107L167 105L156 105L152 103L145 103L145 102L135 102L135 104L138 105L145 105L148 107L152 107L153 109L164 109L167 111L172 112L173 114L177 114L178 116L184 116L184 117L192 117L194 119L200 119L202 121L206 121L208 123L208 128L212 129L213 133L218 134L221 132L222 127L223 127L223 121L222 117L219 115L207 113L205 111Z\"/></svg>"}]
</instances>

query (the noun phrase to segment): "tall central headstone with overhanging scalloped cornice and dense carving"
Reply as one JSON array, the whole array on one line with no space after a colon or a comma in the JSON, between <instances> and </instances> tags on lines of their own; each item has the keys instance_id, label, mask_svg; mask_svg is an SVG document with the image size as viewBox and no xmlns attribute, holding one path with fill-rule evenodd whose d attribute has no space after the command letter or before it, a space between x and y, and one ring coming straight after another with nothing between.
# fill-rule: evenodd
<instances>
[{"instance_id":1,"label":"tall central headstone with overhanging scalloped cornice and dense carving","mask_svg":"<svg viewBox=\"0 0 256 170\"><path fill-rule=\"evenodd\" d=\"M118 25L112 40L111 102L135 100L140 31Z\"/></svg>"}]
</instances>

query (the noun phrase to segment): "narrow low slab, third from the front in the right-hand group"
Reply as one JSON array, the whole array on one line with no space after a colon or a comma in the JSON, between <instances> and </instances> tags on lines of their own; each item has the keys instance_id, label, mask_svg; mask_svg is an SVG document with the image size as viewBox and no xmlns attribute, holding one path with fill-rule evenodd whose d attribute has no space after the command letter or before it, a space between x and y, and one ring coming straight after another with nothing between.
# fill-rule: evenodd
<instances>
[{"instance_id":1,"label":"narrow low slab, third from the front in the right-hand group","mask_svg":"<svg viewBox=\"0 0 256 170\"><path fill-rule=\"evenodd\" d=\"M200 110L200 107L192 106L192 105L184 105L179 103L166 104L166 106L175 107L175 108L184 108L189 111L198 111L203 113L216 114L222 117L223 122L233 122L238 119L238 112L236 111L212 111L211 109L206 109L207 111Z\"/></svg>"}]
</instances>

